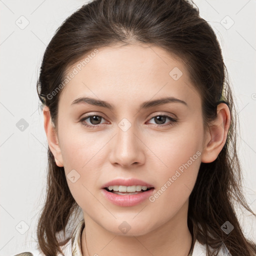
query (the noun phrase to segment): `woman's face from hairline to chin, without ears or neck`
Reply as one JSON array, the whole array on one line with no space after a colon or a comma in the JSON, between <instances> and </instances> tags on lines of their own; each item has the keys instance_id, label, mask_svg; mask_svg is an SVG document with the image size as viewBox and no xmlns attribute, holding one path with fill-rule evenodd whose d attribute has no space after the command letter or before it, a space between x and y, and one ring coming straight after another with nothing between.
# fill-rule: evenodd
<instances>
[{"instance_id":1,"label":"woman's face from hairline to chin, without ears or neck","mask_svg":"<svg viewBox=\"0 0 256 256\"><path fill-rule=\"evenodd\" d=\"M142 235L186 221L204 147L201 99L187 70L156 46L94 52L67 72L72 78L61 92L57 118L58 160L85 222ZM77 100L82 97L91 100ZM103 188L132 178L153 188L130 195ZM113 185L133 191L141 182Z\"/></svg>"}]
</instances>

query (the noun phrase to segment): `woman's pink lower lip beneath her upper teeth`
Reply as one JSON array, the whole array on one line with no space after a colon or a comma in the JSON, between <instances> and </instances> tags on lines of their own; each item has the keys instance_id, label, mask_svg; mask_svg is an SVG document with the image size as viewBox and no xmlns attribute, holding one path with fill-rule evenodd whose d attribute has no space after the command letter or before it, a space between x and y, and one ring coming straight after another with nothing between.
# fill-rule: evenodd
<instances>
[{"instance_id":1,"label":"woman's pink lower lip beneath her upper teeth","mask_svg":"<svg viewBox=\"0 0 256 256\"><path fill-rule=\"evenodd\" d=\"M134 206L147 199L152 194L154 188L137 194L125 195L108 192L104 188L101 188L101 190L103 195L113 204L116 204L118 206Z\"/></svg>"}]
</instances>

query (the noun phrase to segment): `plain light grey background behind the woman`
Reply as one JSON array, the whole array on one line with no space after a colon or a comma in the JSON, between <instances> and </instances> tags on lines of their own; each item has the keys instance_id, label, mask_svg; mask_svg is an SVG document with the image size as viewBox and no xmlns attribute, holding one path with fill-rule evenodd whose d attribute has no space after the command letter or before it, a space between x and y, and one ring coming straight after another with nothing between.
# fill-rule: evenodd
<instances>
[{"instance_id":1,"label":"plain light grey background behind the woman","mask_svg":"<svg viewBox=\"0 0 256 256\"><path fill-rule=\"evenodd\" d=\"M223 50L240 119L238 154L243 168L245 198L256 212L256 1L194 2L200 15L213 26ZM45 196L47 163L47 140L38 108L36 80L42 54L54 31L84 3L86 1L82 0L0 0L2 256L34 246L35 225ZM22 15L24 17L20 17ZM26 22L29 24L22 27ZM23 131L16 126L21 118L28 123ZM256 241L255 219L246 212L244 217L242 212L237 212L246 236ZM26 224L20 221L29 227L26 232Z\"/></svg>"}]
</instances>

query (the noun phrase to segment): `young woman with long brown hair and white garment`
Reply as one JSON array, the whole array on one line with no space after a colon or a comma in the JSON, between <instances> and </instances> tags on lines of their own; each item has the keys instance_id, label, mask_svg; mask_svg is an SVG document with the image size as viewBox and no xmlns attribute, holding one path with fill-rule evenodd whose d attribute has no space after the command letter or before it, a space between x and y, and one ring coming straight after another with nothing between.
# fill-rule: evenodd
<instances>
[{"instance_id":1,"label":"young woman with long brown hair and white garment","mask_svg":"<svg viewBox=\"0 0 256 256\"><path fill-rule=\"evenodd\" d=\"M256 255L233 204L255 215L226 67L192 3L83 5L48 44L37 91L49 147L34 255Z\"/></svg>"}]
</instances>

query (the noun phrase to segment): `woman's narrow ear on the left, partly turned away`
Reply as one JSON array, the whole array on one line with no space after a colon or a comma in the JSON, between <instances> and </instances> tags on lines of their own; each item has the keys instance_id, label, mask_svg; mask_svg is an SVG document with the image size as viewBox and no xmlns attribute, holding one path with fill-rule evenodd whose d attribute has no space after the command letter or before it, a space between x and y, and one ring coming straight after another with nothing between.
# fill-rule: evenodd
<instances>
[{"instance_id":1,"label":"woman's narrow ear on the left, partly turned away","mask_svg":"<svg viewBox=\"0 0 256 256\"><path fill-rule=\"evenodd\" d=\"M62 155L61 155L61 151L58 143L56 130L51 121L49 108L47 106L44 106L42 111L43 111L43 119L44 119L44 130L46 133L50 151L54 155L57 166L62 167L63 166Z\"/></svg>"}]
</instances>

